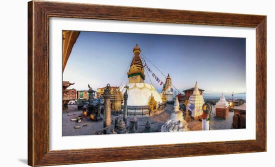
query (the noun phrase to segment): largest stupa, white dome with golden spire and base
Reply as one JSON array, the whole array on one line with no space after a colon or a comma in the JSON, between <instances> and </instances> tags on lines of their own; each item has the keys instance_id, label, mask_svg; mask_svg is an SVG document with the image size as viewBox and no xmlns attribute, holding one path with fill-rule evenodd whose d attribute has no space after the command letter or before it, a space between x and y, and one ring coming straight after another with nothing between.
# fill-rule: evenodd
<instances>
[{"instance_id":1,"label":"largest stupa, white dome with golden spire and base","mask_svg":"<svg viewBox=\"0 0 275 167\"><path fill-rule=\"evenodd\" d=\"M130 116L148 116L163 111L166 106L165 101L162 102L160 94L154 86L145 83L144 66L139 56L140 48L136 44L133 48L133 58L130 64L128 75L128 83L119 87L122 94L127 89L128 113ZM122 105L124 105L122 103Z\"/></svg>"}]
</instances>

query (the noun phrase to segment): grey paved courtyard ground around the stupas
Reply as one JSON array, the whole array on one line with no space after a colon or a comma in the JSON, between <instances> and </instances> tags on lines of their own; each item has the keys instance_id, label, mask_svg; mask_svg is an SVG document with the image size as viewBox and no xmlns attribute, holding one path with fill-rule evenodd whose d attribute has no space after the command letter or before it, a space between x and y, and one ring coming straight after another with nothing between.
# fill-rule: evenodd
<instances>
[{"instance_id":1,"label":"grey paved courtyard ground around the stupas","mask_svg":"<svg viewBox=\"0 0 275 167\"><path fill-rule=\"evenodd\" d=\"M160 132L161 126L170 119L170 114L173 110L171 104L167 104L167 108L158 115L153 115L150 117L139 117L137 120L137 129L136 132L143 132L145 128L145 123L147 119L151 122L152 132ZM214 107L213 107L214 110ZM82 114L82 110L77 110L76 105L68 105L68 111L62 112L62 136L70 135L91 135L96 134L96 132L103 129L103 120L91 121L88 117L83 116L83 119L80 123L76 121L71 121L71 119L76 118ZM112 114L112 119L114 120L117 115ZM211 129L230 129L232 123L233 112L228 113L227 118L219 119L214 117L214 113L211 116ZM114 122L114 121L113 121ZM128 122L127 122L128 124ZM79 128L74 128L79 126ZM114 127L112 123L111 128ZM191 118L191 121L188 122L188 128L190 130L201 130L201 121L194 120Z\"/></svg>"}]
</instances>

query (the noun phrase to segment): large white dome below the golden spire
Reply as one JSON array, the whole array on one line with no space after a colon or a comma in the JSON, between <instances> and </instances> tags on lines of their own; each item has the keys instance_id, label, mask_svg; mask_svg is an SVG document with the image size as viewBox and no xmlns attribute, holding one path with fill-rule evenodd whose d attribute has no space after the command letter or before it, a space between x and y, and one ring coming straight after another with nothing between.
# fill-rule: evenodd
<instances>
[{"instance_id":1,"label":"large white dome below the golden spire","mask_svg":"<svg viewBox=\"0 0 275 167\"><path fill-rule=\"evenodd\" d=\"M130 105L130 106L148 105L148 101L151 97L151 94L153 95L153 97L157 103L158 102L162 103L160 94L156 91L154 86L149 83L135 82L135 83L124 84L119 87L119 90L122 92L122 94L126 90L126 88L124 86L128 86L127 105Z\"/></svg>"}]
</instances>

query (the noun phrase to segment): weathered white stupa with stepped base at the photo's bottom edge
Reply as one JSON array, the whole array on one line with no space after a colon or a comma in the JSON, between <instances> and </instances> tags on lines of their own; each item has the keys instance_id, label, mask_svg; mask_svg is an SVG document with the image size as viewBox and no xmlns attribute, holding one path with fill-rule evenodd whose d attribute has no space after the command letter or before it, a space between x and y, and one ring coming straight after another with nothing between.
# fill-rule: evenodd
<instances>
[{"instance_id":1,"label":"weathered white stupa with stepped base at the photo's bottom edge","mask_svg":"<svg viewBox=\"0 0 275 167\"><path fill-rule=\"evenodd\" d=\"M188 131L187 125L188 123L183 119L183 112L179 110L179 102L176 96L170 120L161 126L161 131Z\"/></svg>"}]
</instances>

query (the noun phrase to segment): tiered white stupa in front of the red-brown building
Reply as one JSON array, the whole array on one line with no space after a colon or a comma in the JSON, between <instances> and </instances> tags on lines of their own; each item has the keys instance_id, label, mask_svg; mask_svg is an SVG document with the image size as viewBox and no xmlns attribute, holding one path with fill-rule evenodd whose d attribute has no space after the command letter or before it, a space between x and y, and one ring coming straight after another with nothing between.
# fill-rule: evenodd
<instances>
[{"instance_id":1,"label":"tiered white stupa in front of the red-brown building","mask_svg":"<svg viewBox=\"0 0 275 167\"><path fill-rule=\"evenodd\" d=\"M195 87L193 94L190 95L188 99L187 109L191 111L191 116L194 119L198 119L198 116L202 114L202 105L204 104L203 96L199 93L197 81L195 82Z\"/></svg>"}]
</instances>

